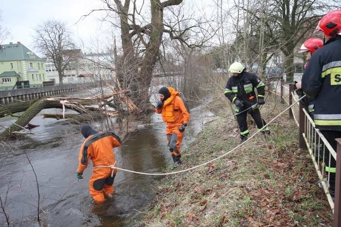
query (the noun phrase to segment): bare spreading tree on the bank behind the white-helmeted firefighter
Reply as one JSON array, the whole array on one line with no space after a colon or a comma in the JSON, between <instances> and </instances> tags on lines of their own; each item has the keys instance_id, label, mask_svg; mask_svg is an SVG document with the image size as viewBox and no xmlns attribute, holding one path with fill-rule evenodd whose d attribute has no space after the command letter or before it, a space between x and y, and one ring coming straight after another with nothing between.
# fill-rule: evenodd
<instances>
[{"instance_id":1,"label":"bare spreading tree on the bank behind the white-helmeted firefighter","mask_svg":"<svg viewBox=\"0 0 341 227\"><path fill-rule=\"evenodd\" d=\"M252 8L243 5L242 9L253 17L253 25L258 24L258 33L254 35L261 39L260 49L265 48L264 40L267 40L270 46L278 47L284 53L286 80L293 81L295 47L312 32L320 17L335 7L334 2L257 0Z\"/></svg>"}]
</instances>

